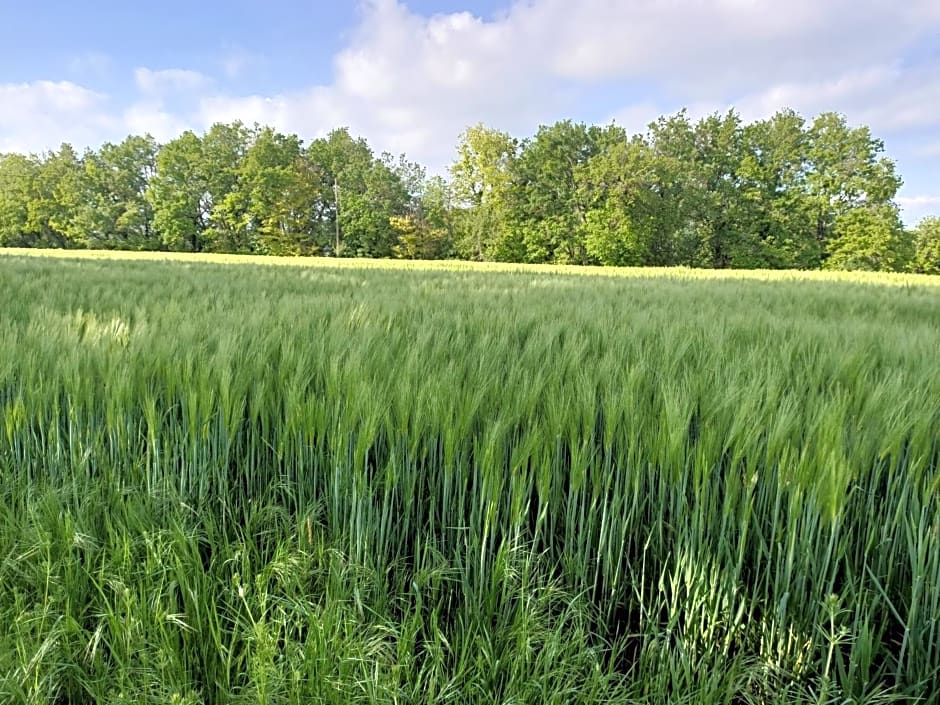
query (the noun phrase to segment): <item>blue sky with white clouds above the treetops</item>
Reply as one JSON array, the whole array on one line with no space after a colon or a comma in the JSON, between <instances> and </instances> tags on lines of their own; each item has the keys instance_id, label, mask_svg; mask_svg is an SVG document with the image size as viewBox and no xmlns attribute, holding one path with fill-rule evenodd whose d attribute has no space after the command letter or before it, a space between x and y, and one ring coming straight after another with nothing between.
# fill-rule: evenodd
<instances>
[{"instance_id":1,"label":"blue sky with white clouds above the treetops","mask_svg":"<svg viewBox=\"0 0 940 705\"><path fill-rule=\"evenodd\" d=\"M940 0L0 0L0 152L240 119L443 172L477 123L731 107L870 126L940 215Z\"/></svg>"}]
</instances>

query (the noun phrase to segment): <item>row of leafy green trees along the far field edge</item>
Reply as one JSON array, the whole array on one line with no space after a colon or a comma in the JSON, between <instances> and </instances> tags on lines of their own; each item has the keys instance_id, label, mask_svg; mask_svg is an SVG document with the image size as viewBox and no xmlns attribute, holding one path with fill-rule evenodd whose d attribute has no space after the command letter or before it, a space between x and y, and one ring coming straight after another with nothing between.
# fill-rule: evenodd
<instances>
[{"instance_id":1,"label":"row of leafy green trees along the far field edge","mask_svg":"<svg viewBox=\"0 0 940 705\"><path fill-rule=\"evenodd\" d=\"M64 144L0 155L0 246L940 272L940 220L904 228L883 142L835 113L478 125L449 176L345 128Z\"/></svg>"}]
</instances>

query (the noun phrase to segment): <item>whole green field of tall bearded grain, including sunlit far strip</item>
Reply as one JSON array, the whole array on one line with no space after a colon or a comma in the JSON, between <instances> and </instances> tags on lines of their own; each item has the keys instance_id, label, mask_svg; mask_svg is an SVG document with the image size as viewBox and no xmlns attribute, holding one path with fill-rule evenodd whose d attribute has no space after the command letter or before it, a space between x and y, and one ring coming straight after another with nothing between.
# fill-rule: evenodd
<instances>
[{"instance_id":1,"label":"whole green field of tall bearded grain, including sunlit far strip","mask_svg":"<svg viewBox=\"0 0 940 705\"><path fill-rule=\"evenodd\" d=\"M940 703L940 278L25 254L0 702Z\"/></svg>"}]
</instances>

